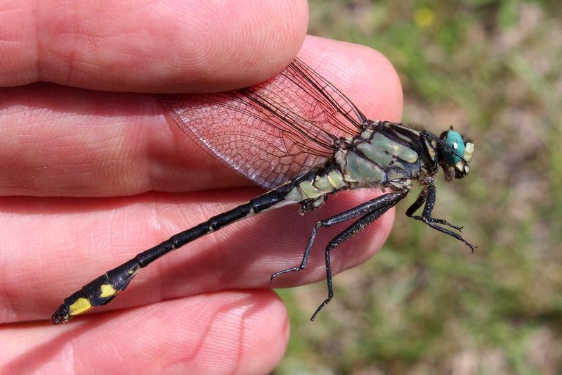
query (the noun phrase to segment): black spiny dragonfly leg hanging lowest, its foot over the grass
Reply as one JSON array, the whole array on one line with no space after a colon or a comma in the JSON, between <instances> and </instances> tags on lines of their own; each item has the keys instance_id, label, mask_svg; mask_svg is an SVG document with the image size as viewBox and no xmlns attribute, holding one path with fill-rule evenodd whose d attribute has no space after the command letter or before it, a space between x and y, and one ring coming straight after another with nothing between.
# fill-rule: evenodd
<instances>
[{"instance_id":1,"label":"black spiny dragonfly leg hanging lowest, its foot over the grass","mask_svg":"<svg viewBox=\"0 0 562 375\"><path fill-rule=\"evenodd\" d=\"M403 198L405 198L407 193L408 190L405 189L403 191L398 191L396 193L388 193L385 194L384 196L379 196L379 198L375 198L373 203L376 204L373 205L372 210L370 212L367 212L367 214L360 217L359 220L357 220L349 227L347 227L344 231L342 231L334 239L332 239L332 241L329 241L325 251L326 284L328 286L328 298L326 298L324 302L322 302L320 306L318 306L318 308L312 315L311 320L314 320L318 312L320 312L320 310L322 310L322 308L324 308L324 306L327 305L329 301L331 301L332 298L334 297L334 288L332 286L332 262L330 261L329 258L329 252L334 248L340 246L341 243L344 243L348 239L351 239L351 237L355 236L355 234L358 234L360 231L368 227L372 222L374 222L374 220L377 220L379 217L381 217L381 215L383 215L384 212L390 210L393 206L396 205L396 203L398 203Z\"/></svg>"}]
</instances>

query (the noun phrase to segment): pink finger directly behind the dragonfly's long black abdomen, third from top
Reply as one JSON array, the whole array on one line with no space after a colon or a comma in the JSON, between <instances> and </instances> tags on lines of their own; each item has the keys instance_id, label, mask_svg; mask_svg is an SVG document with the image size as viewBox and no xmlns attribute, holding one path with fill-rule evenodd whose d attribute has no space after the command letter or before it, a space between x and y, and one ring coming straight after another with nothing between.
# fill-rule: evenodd
<instances>
[{"instance_id":1,"label":"pink finger directly behind the dragonfly's long black abdomen, third from top","mask_svg":"<svg viewBox=\"0 0 562 375\"><path fill-rule=\"evenodd\" d=\"M189 195L152 193L130 198L2 198L0 317L3 322L48 319L63 298L157 245L172 234L234 208L258 189ZM322 210L298 206L265 212L204 236L146 267L100 312L227 288L268 288L273 272L299 265L311 230L372 198L372 191L339 193ZM393 221L384 215L332 251L334 273L370 258ZM323 249L348 224L320 229L308 268L276 279L295 286L325 279ZM324 296L319 296L319 299Z\"/></svg>"}]
</instances>

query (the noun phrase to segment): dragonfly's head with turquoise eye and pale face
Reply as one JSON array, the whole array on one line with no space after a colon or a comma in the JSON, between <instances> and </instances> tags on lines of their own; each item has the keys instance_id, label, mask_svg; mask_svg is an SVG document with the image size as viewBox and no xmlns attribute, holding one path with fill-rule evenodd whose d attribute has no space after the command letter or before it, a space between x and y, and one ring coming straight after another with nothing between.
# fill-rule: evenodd
<instances>
[{"instance_id":1,"label":"dragonfly's head with turquoise eye and pale face","mask_svg":"<svg viewBox=\"0 0 562 375\"><path fill-rule=\"evenodd\" d=\"M455 132L452 127L441 133L439 164L445 172L445 179L462 179L469 174L469 163L474 152L474 144L462 139L461 134Z\"/></svg>"}]
</instances>

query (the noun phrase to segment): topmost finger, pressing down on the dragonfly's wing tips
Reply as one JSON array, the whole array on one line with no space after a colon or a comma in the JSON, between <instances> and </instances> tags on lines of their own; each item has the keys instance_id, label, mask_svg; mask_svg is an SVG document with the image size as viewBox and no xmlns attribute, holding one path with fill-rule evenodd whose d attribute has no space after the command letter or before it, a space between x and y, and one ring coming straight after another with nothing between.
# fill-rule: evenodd
<instances>
[{"instance_id":1,"label":"topmost finger, pressing down on the dragonfly's wing tips","mask_svg":"<svg viewBox=\"0 0 562 375\"><path fill-rule=\"evenodd\" d=\"M8 6L11 8L8 9ZM104 91L223 91L286 66L306 1L21 1L0 6L0 86L37 81Z\"/></svg>"}]
</instances>

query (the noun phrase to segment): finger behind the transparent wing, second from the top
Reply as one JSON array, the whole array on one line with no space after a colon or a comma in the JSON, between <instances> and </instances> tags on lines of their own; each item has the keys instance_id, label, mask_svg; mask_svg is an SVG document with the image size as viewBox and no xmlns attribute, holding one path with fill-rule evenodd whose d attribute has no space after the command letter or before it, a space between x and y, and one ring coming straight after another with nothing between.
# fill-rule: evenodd
<instances>
[{"instance_id":1,"label":"finger behind the transparent wing, second from the top","mask_svg":"<svg viewBox=\"0 0 562 375\"><path fill-rule=\"evenodd\" d=\"M301 56L362 110L400 120L396 71L377 51L308 37ZM217 163L153 96L46 84L0 89L0 195L124 196L249 181Z\"/></svg>"}]
</instances>

